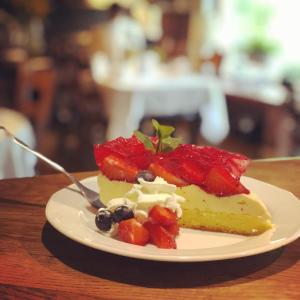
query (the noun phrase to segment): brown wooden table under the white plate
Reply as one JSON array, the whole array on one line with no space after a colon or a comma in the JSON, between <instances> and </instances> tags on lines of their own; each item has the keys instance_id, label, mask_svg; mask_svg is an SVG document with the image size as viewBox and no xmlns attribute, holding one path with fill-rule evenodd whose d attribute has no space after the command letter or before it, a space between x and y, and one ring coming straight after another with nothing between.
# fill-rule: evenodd
<instances>
[{"instance_id":1,"label":"brown wooden table under the white plate","mask_svg":"<svg viewBox=\"0 0 300 300\"><path fill-rule=\"evenodd\" d=\"M256 161L247 175L300 197L300 159ZM47 200L68 184L63 175L0 181L1 299L300 299L300 239L269 253L216 262L112 255L47 223Z\"/></svg>"}]
</instances>

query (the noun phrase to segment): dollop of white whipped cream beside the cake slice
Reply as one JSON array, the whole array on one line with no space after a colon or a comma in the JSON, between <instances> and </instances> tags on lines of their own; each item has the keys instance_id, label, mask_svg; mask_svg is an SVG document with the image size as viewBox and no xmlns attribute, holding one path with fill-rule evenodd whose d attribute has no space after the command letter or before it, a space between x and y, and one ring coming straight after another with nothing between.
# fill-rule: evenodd
<instances>
[{"instance_id":1,"label":"dollop of white whipped cream beside the cake slice","mask_svg":"<svg viewBox=\"0 0 300 300\"><path fill-rule=\"evenodd\" d=\"M148 217L149 210L159 204L176 213L178 218L181 217L180 203L185 199L175 194L176 185L166 182L161 177L156 177L154 181L145 181L143 178L139 178L138 182L124 197L110 200L107 208L114 211L118 206L126 205L132 209L135 218L142 221Z\"/></svg>"}]
</instances>

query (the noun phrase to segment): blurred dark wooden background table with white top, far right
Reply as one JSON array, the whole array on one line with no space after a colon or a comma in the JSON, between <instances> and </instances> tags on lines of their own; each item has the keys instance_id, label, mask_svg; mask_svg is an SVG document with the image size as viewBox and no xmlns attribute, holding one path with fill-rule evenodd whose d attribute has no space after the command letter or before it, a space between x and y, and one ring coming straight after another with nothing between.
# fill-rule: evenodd
<instances>
[{"instance_id":1,"label":"blurred dark wooden background table with white top, far right","mask_svg":"<svg viewBox=\"0 0 300 300\"><path fill-rule=\"evenodd\" d=\"M292 153L294 120L286 89L278 83L223 81L232 131L249 134L260 128L260 155Z\"/></svg>"}]
</instances>

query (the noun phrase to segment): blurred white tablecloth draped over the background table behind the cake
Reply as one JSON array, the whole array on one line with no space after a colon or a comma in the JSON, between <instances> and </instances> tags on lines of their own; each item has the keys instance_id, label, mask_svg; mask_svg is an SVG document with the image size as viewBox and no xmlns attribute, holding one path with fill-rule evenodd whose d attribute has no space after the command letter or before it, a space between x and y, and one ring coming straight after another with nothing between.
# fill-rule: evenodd
<instances>
[{"instance_id":1,"label":"blurred white tablecloth draped over the background table behind the cake","mask_svg":"<svg viewBox=\"0 0 300 300\"><path fill-rule=\"evenodd\" d=\"M145 116L198 113L199 131L210 143L229 133L227 106L221 84L202 75L135 77L99 82L107 105L107 139L129 137Z\"/></svg>"}]
</instances>

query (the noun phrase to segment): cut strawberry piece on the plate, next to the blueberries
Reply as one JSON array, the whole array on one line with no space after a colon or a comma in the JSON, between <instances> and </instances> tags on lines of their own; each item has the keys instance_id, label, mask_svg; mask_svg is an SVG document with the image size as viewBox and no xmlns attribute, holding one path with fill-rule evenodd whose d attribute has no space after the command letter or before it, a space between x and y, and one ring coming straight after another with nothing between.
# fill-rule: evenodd
<instances>
[{"instance_id":1,"label":"cut strawberry piece on the plate, next to the blueberries","mask_svg":"<svg viewBox=\"0 0 300 300\"><path fill-rule=\"evenodd\" d=\"M118 235L121 241L140 246L146 245L150 238L148 230L134 218L119 223Z\"/></svg>"}]
</instances>

